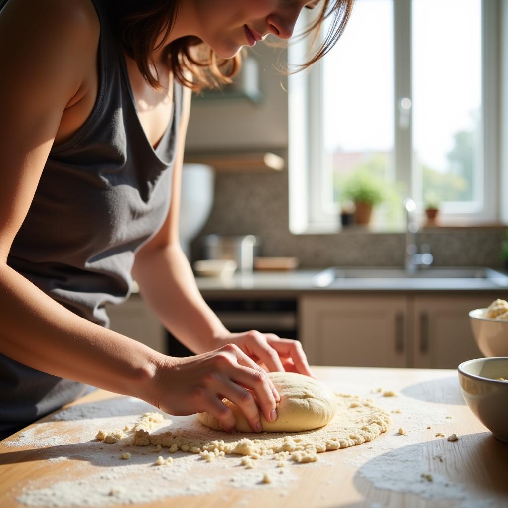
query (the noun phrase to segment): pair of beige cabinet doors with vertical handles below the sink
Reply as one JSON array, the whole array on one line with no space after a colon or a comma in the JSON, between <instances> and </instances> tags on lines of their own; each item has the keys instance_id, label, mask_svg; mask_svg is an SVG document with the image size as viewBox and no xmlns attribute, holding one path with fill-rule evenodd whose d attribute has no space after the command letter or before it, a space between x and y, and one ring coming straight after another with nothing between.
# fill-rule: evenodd
<instances>
[{"instance_id":1,"label":"pair of beige cabinet doors with vertical handles below the sink","mask_svg":"<svg viewBox=\"0 0 508 508\"><path fill-rule=\"evenodd\" d=\"M305 295L300 340L310 364L456 368L481 358L468 312L497 293Z\"/></svg>"}]
</instances>

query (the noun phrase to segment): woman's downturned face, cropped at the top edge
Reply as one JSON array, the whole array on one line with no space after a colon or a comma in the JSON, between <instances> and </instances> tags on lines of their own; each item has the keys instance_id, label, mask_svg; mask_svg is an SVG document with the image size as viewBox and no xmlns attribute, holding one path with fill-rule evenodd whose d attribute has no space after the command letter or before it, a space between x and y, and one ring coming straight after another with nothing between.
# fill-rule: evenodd
<instances>
[{"instance_id":1,"label":"woman's downturned face, cropped at the top edge","mask_svg":"<svg viewBox=\"0 0 508 508\"><path fill-rule=\"evenodd\" d=\"M184 2L187 0L184 0ZM253 46L273 34L293 35L303 8L319 0L194 0L196 35L222 58L233 57L242 46Z\"/></svg>"}]
</instances>

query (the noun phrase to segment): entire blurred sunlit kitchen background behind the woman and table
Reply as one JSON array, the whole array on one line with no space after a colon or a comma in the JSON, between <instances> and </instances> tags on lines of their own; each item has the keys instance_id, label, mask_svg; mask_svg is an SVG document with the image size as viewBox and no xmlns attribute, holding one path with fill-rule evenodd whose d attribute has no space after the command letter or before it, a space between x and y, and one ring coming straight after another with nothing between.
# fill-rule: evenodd
<instances>
[{"instance_id":1,"label":"entire blurred sunlit kitchen background behind the woman and table","mask_svg":"<svg viewBox=\"0 0 508 508\"><path fill-rule=\"evenodd\" d=\"M180 227L203 296L311 364L481 357L468 312L508 296L508 1L356 0L310 72L277 71L307 50L258 43L193 99ZM139 295L110 313L189 354Z\"/></svg>"}]
</instances>

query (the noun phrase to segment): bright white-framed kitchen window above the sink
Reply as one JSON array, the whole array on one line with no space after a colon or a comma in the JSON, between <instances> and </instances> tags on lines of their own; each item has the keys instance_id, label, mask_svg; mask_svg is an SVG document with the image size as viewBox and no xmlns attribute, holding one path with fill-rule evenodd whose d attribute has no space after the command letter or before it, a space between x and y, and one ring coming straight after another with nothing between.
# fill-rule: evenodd
<instances>
[{"instance_id":1,"label":"bright white-framed kitchen window above the sink","mask_svg":"<svg viewBox=\"0 0 508 508\"><path fill-rule=\"evenodd\" d=\"M358 171L391 182L374 229L400 229L406 197L422 215L437 201L449 221L498 219L498 18L497 0L356 0L336 46L289 77L292 232L337 231Z\"/></svg>"}]
</instances>

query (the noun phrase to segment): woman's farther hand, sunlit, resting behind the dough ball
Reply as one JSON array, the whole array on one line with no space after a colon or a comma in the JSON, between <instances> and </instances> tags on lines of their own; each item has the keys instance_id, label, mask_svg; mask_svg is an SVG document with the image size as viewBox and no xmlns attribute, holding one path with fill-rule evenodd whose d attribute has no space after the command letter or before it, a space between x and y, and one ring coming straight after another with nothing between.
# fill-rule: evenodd
<instances>
[{"instance_id":1,"label":"woman's farther hand, sunlit, resting behind the dough ball","mask_svg":"<svg viewBox=\"0 0 508 508\"><path fill-rule=\"evenodd\" d=\"M290 371L315 377L310 370L302 344L298 340L281 339L273 333L250 330L228 333L219 342L236 344L250 359L268 371Z\"/></svg>"}]
</instances>

